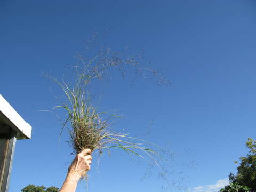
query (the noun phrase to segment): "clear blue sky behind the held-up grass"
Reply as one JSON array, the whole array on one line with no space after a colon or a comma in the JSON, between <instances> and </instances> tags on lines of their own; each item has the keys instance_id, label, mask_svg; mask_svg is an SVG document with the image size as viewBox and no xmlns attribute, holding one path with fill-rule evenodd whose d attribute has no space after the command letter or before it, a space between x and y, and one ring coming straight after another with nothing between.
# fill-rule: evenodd
<instances>
[{"instance_id":1,"label":"clear blue sky behind the held-up grass","mask_svg":"<svg viewBox=\"0 0 256 192\"><path fill-rule=\"evenodd\" d=\"M145 47L152 67L167 69L171 86L113 81L101 106L124 114L116 127L131 135L154 119L148 139L162 146L171 141L177 156L170 168L196 163L184 170L190 191L217 191L236 172L233 160L247 154L247 138L255 139L255 22L255 1L2 0L1 94L33 126L31 140L17 142L10 192L28 184L61 186L72 158L68 135L58 143L58 120L39 110L58 105L49 86L62 93L41 74L70 73L67 66L83 49L79 42L105 28L117 50L129 43L133 51ZM95 159L91 192L155 192L163 183L155 177L140 182L145 167L121 150L101 159L99 173L96 165ZM77 191L84 190L81 183Z\"/></svg>"}]
</instances>

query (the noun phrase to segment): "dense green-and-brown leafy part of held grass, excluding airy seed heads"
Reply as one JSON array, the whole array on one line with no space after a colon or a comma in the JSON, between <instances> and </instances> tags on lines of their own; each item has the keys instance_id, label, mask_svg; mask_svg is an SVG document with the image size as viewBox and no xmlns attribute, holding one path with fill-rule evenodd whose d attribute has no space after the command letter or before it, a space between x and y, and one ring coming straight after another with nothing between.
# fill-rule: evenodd
<instances>
[{"instance_id":1,"label":"dense green-and-brown leafy part of held grass, excluding airy seed heads","mask_svg":"<svg viewBox=\"0 0 256 192\"><path fill-rule=\"evenodd\" d=\"M64 79L59 82L56 78L47 77L58 83L66 95L67 103L54 108L62 108L68 112L68 117L63 124L61 133L64 127L70 123L71 127L68 132L73 154L78 154L85 148L89 148L91 151L99 150L100 154L103 149L106 149L110 153L109 148L115 147L122 148L127 153L133 153L140 157L143 156L134 149L144 151L151 158L153 156L150 153L157 155L155 151L141 147L141 143L131 142L131 140L140 139L132 138L128 136L129 134L118 133L110 129L111 123L109 123L109 119L121 117L109 115L108 118L104 118L107 113L99 112L98 107L92 106L92 98L86 89L91 82L91 78L93 78L92 76L84 75L84 73L80 74L74 87L68 85Z\"/></svg>"}]
</instances>

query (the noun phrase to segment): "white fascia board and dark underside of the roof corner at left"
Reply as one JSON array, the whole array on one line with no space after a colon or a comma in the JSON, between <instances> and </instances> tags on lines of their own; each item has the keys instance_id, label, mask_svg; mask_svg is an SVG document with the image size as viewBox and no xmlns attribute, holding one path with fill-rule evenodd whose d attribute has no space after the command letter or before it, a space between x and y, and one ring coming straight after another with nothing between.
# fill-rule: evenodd
<instances>
[{"instance_id":1,"label":"white fascia board and dark underside of the roof corner at left","mask_svg":"<svg viewBox=\"0 0 256 192\"><path fill-rule=\"evenodd\" d=\"M2 122L1 122L2 121ZM17 131L18 139L30 139L32 127L15 111L0 94L0 123Z\"/></svg>"}]
</instances>

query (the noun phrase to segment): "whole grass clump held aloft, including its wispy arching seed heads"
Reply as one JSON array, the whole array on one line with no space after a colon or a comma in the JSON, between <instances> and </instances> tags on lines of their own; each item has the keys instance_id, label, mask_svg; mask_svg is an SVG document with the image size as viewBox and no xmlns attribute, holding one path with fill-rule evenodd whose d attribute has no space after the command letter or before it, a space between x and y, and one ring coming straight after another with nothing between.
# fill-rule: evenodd
<instances>
[{"instance_id":1,"label":"whole grass clump held aloft, including its wispy arching seed heads","mask_svg":"<svg viewBox=\"0 0 256 192\"><path fill-rule=\"evenodd\" d=\"M92 40L89 42L91 43ZM103 150L107 150L110 154L111 148L120 148L131 157L136 156L145 159L150 165L156 165L160 170L161 177L167 181L165 170L160 163L166 161L166 159L158 151L145 147L145 143L161 150L163 148L146 140L130 137L129 134L119 133L111 129L110 119L121 117L109 115L106 111L99 111L98 105L94 105L90 85L96 79L102 80L104 77L109 77L108 70L110 68L118 68L123 77L127 72L126 68L132 68L135 74L138 75L135 79L138 79L139 76L145 78L145 73L148 71L153 74L150 79L153 79L157 84L169 85L170 83L158 70L140 67L137 59L142 58L141 54L143 52L136 59L136 57L130 57L123 52L111 52L109 46L105 48L100 45L100 51L92 57L83 57L80 53L77 53L78 62L75 65L76 75L73 83L67 83L64 78L62 78L62 81L58 81L57 78L46 74L46 77L60 85L65 93L66 102L54 107L67 111L67 118L63 123L61 133L65 127L69 126L69 143L73 148L73 154L78 154L85 148L90 148L91 151L98 150L99 154L102 154ZM169 185L168 181L167 183Z\"/></svg>"}]
</instances>

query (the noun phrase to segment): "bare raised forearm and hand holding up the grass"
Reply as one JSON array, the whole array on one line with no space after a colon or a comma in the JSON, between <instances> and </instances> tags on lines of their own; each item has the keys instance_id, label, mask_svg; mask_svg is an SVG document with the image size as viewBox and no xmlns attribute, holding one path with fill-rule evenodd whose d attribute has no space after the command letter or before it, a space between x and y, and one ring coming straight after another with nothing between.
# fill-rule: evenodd
<instances>
[{"instance_id":1,"label":"bare raised forearm and hand holding up the grass","mask_svg":"<svg viewBox=\"0 0 256 192\"><path fill-rule=\"evenodd\" d=\"M78 180L90 170L92 156L90 149L84 149L77 154L71 165L68 167L67 177L59 192L75 192Z\"/></svg>"}]
</instances>

